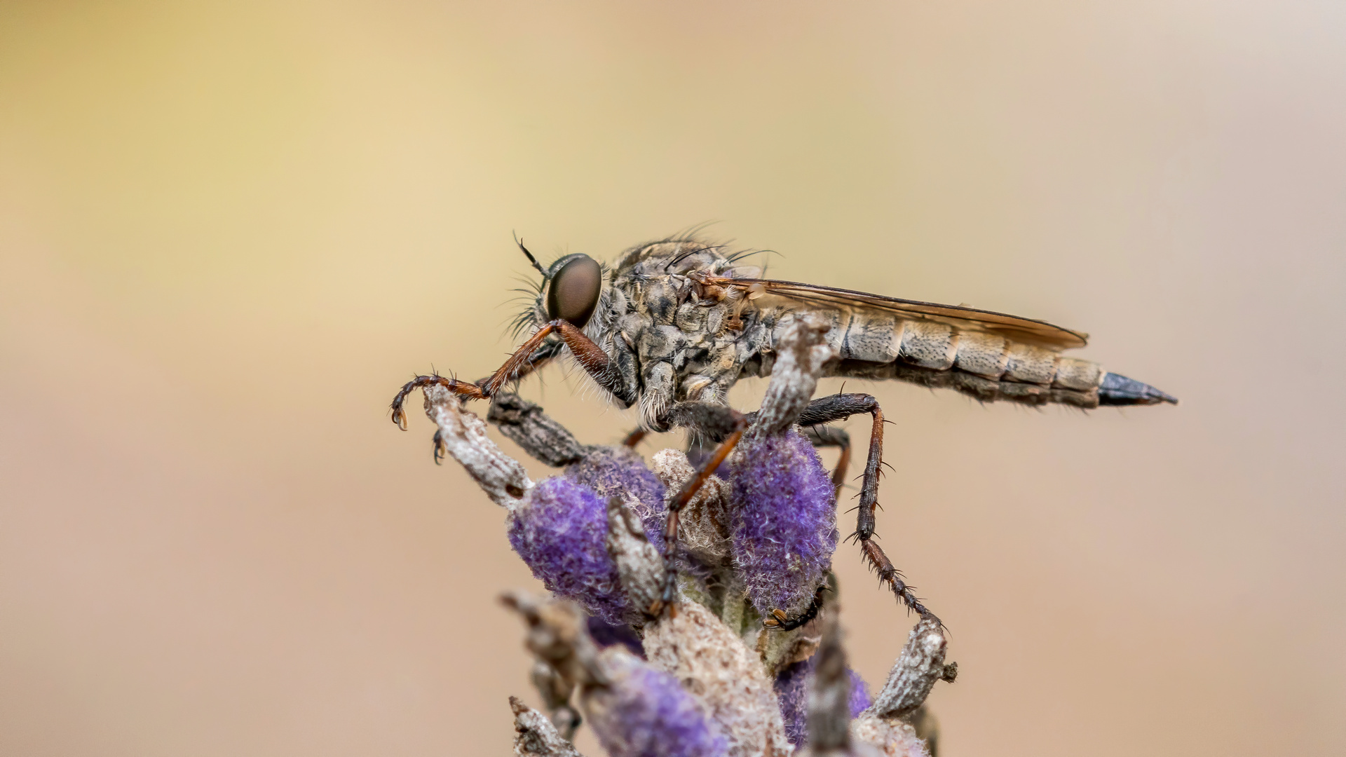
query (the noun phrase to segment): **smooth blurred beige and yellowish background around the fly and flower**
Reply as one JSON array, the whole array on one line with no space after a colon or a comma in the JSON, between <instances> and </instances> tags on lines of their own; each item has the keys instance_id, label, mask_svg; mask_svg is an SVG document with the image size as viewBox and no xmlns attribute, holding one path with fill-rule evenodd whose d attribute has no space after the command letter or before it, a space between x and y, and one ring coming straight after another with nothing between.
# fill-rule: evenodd
<instances>
[{"instance_id":1,"label":"smooth blurred beige and yellowish background around the fly and flower","mask_svg":"<svg viewBox=\"0 0 1346 757\"><path fill-rule=\"evenodd\" d=\"M1183 400L872 388L946 754L1341 754L1343 8L0 4L0 753L509 752L537 585L386 403L511 348L511 230L719 220ZM837 566L878 684L913 620Z\"/></svg>"}]
</instances>

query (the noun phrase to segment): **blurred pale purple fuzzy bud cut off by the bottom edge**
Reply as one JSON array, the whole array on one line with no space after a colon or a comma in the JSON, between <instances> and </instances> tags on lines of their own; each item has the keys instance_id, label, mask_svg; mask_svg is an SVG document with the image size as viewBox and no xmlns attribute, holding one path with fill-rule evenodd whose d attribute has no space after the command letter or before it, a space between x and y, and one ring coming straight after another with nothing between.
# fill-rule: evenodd
<instances>
[{"instance_id":1,"label":"blurred pale purple fuzzy bud cut off by the bottom edge","mask_svg":"<svg viewBox=\"0 0 1346 757\"><path fill-rule=\"evenodd\" d=\"M590 725L611 757L720 757L724 737L677 679L627 655L608 657L612 683L588 702Z\"/></svg>"}]
</instances>

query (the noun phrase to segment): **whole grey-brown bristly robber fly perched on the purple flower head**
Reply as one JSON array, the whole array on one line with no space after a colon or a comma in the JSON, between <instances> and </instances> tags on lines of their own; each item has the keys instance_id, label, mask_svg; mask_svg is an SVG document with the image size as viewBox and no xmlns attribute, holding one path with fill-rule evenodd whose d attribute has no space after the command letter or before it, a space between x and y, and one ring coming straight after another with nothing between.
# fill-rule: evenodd
<instances>
[{"instance_id":1,"label":"whole grey-brown bristly robber fly perched on the purple flower head","mask_svg":"<svg viewBox=\"0 0 1346 757\"><path fill-rule=\"evenodd\" d=\"M536 296L518 319L532 335L481 381L416 377L393 400L393 419L405 428L402 400L415 388L440 384L464 399L490 399L568 350L611 401L639 408L643 430L685 427L717 442L699 474L669 504L665 555L670 574L664 603L674 598L678 511L751 422L751 415L728 408L728 391L739 378L771 374L786 348L782 335L795 319L825 319L830 358L821 364L821 376L896 378L956 389L981 401L1030 405L1178 401L1096 362L1061 356L1085 346L1086 335L1079 331L965 306L763 279L759 269L739 265L747 253L731 253L693 236L634 246L611 268L579 253L542 267L528 248L518 246L541 273ZM830 395L809 403L797 423L813 430L814 443L841 447L840 481L849 442L824 424L856 414L871 415L874 424L852 537L898 598L929 614L872 540L883 457L879 403L864 393Z\"/></svg>"}]
</instances>

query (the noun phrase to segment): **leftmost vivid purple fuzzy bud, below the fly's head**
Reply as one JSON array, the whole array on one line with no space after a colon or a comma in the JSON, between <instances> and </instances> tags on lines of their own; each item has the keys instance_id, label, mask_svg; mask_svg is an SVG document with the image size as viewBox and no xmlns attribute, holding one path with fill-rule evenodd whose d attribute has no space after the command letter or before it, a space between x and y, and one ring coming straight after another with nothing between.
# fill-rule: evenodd
<instances>
[{"instance_id":1,"label":"leftmost vivid purple fuzzy bud, below the fly's head","mask_svg":"<svg viewBox=\"0 0 1346 757\"><path fill-rule=\"evenodd\" d=\"M621 624L626 595L607 554L607 504L588 486L553 477L509 516L509 543L548 590Z\"/></svg>"}]
</instances>

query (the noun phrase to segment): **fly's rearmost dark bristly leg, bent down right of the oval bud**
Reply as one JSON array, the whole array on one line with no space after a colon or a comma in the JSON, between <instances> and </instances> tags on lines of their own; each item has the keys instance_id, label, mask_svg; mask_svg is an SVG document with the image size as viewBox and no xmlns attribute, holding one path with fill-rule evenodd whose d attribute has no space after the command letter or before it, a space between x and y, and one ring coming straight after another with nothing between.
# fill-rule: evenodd
<instances>
[{"instance_id":1,"label":"fly's rearmost dark bristly leg, bent down right of the oval bud","mask_svg":"<svg viewBox=\"0 0 1346 757\"><path fill-rule=\"evenodd\" d=\"M874 427L870 431L870 457L864 465L864 481L860 486L860 504L856 506L855 533L851 535L860 544L864 559L870 562L879 579L886 582L898 599L907 607L915 610L921 617L935 618L911 587L902 581L902 574L892 567L892 562L883 554L883 550L874 543L874 511L879 505L879 466L883 465L883 409L879 401L871 395L832 395L809 403L809 407L800 415L800 426L817 426L833 420L845 420L852 415L867 412L874 416Z\"/></svg>"}]
</instances>

